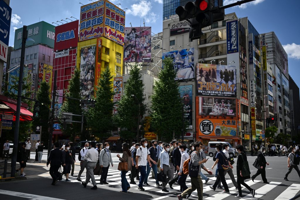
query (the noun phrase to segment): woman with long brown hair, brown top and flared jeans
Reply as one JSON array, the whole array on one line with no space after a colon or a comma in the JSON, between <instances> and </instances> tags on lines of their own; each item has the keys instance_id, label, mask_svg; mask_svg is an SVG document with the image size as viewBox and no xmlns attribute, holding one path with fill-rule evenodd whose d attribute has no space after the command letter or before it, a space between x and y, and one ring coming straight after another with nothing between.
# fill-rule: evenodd
<instances>
[{"instance_id":1,"label":"woman with long brown hair, brown top and flared jeans","mask_svg":"<svg viewBox=\"0 0 300 200\"><path fill-rule=\"evenodd\" d=\"M127 162L128 169L127 169L127 171L121 171L122 190L120 192L127 193L127 190L130 189L130 184L128 183L128 181L126 179L126 173L128 171L131 171L131 152L129 151L129 146L126 142L122 144L122 150L123 150L122 158L120 157L119 154L117 155L117 157L122 162Z\"/></svg>"}]
</instances>

